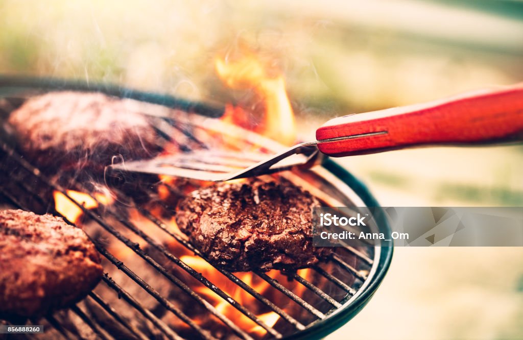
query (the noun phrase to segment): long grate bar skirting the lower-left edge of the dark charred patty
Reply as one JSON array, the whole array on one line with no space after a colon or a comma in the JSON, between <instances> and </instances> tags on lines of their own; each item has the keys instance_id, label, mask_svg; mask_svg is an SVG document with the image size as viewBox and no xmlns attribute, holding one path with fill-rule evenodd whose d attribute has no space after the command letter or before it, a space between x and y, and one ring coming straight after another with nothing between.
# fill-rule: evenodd
<instances>
[{"instance_id":1,"label":"long grate bar skirting the lower-left edge of the dark charred patty","mask_svg":"<svg viewBox=\"0 0 523 340\"><path fill-rule=\"evenodd\" d=\"M276 304L272 303L270 300L268 300L266 297L258 293L256 290L254 290L251 286L247 285L245 282L240 280L237 276L232 274L230 271L215 267L212 263L209 262L206 256L204 256L197 248L192 246L187 240L184 240L183 237L180 235L173 233L172 231L169 231L165 223L163 223L161 220L157 219L153 216L149 211L139 209L140 213L142 213L146 218L151 220L154 224L156 224L159 228L161 228L163 231L165 231L168 235L174 237L176 241L180 242L182 245L184 245L188 250L194 252L196 255L200 256L204 260L206 260L211 266L213 266L216 270L220 271L225 277L230 279L232 282L234 282L236 285L240 286L242 289L247 291L249 294L251 294L253 297L255 297L260 302L264 303L267 307L269 307L273 312L280 315L283 319L288 321L290 324L292 324L294 327L296 327L298 330L305 329L305 326L297 321L296 319L292 318L289 314L287 314L285 311L280 309Z\"/></svg>"}]
</instances>

